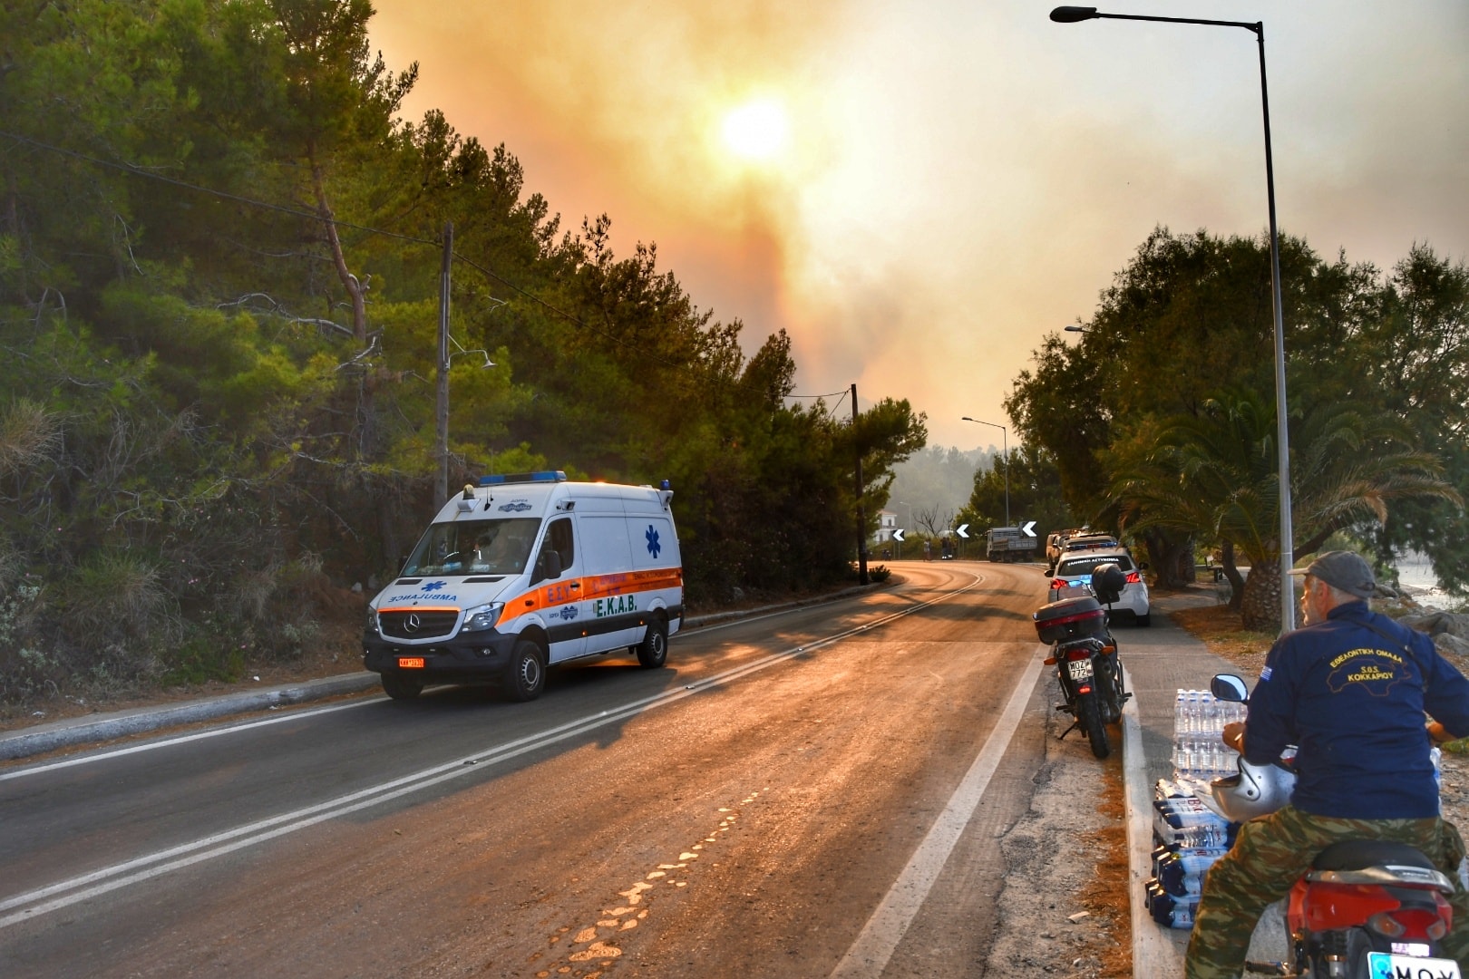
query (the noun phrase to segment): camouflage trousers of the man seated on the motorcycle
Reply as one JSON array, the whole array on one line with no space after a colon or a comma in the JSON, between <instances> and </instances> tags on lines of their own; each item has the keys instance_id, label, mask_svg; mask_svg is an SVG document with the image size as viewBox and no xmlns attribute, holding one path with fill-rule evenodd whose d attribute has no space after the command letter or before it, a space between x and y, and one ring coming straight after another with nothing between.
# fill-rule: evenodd
<instances>
[{"instance_id":1,"label":"camouflage trousers of the man seated on the motorcycle","mask_svg":"<svg viewBox=\"0 0 1469 979\"><path fill-rule=\"evenodd\" d=\"M1459 882L1465 844L1443 819L1340 819L1285 806L1240 826L1240 835L1203 882L1188 938L1188 979L1240 979L1250 935L1266 906L1285 897L1318 853L1343 840L1391 840L1418 847L1454 882L1454 928L1443 954L1469 960L1469 894Z\"/></svg>"}]
</instances>

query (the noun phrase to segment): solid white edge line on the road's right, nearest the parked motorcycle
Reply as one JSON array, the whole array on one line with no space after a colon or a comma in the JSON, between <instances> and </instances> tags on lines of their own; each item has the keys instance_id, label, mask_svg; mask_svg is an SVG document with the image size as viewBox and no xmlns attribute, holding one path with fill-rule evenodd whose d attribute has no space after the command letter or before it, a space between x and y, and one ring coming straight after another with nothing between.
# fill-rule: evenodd
<instances>
[{"instance_id":1,"label":"solid white edge line on the road's right, nearest the parked motorcycle","mask_svg":"<svg viewBox=\"0 0 1469 979\"><path fill-rule=\"evenodd\" d=\"M898 879L887 889L883 901L867 919L862 932L846 950L842 961L831 970L831 979L876 979L883 975L887 961L893 957L898 942L902 941L912 925L918 909L928 898L934 881L949 862L955 844L964 835L965 826L978 809L984 790L990 785L990 776L999 768L1005 750L1009 747L1015 728L1019 727L1025 713L1025 703L1036 690L1036 680L1040 677L1042 659L1049 652L1049 646L1037 646L1030 663L1019 675L1015 691L1011 694L1005 712L990 731L990 737L980 749L978 757L970 766L968 774L949 798L949 804L939 813L939 819L928 828L928 835L918 844L908 866L898 875Z\"/></svg>"}]
</instances>

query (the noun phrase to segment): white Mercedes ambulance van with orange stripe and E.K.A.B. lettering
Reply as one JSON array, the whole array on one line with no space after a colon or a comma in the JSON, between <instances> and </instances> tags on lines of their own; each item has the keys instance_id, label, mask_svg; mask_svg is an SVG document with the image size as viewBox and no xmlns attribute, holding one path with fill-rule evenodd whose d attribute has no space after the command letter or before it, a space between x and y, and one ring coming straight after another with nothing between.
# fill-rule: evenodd
<instances>
[{"instance_id":1,"label":"white Mercedes ambulance van with orange stripe and E.K.A.B. lettering","mask_svg":"<svg viewBox=\"0 0 1469 979\"><path fill-rule=\"evenodd\" d=\"M673 490L486 476L450 499L367 608L363 659L388 696L502 683L533 700L546 666L627 650L663 666L683 624Z\"/></svg>"}]
</instances>

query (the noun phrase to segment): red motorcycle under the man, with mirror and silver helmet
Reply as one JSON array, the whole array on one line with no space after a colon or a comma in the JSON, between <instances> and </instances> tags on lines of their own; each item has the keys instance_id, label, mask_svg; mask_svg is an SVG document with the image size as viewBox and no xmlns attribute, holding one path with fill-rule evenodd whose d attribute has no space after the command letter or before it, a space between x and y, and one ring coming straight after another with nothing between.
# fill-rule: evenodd
<instances>
[{"instance_id":1,"label":"red motorcycle under the man, with mirror and silver helmet","mask_svg":"<svg viewBox=\"0 0 1469 979\"><path fill-rule=\"evenodd\" d=\"M1219 700L1244 703L1244 681L1219 674ZM1205 800L1225 819L1243 822L1287 801L1296 775L1288 762L1252 765L1210 784ZM1293 963L1249 963L1247 972L1313 979L1460 979L1459 963L1440 957L1453 910L1453 882L1415 847L1384 840L1335 842L1312 860L1290 891L1285 925Z\"/></svg>"}]
</instances>

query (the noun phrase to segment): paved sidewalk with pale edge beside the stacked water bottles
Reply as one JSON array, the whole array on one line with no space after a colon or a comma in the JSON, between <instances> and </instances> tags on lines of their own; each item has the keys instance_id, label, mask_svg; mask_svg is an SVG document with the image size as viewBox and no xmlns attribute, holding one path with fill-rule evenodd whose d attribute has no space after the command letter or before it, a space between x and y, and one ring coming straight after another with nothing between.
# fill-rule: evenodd
<instances>
[{"instance_id":1,"label":"paved sidewalk with pale edge beside the stacked water bottles","mask_svg":"<svg viewBox=\"0 0 1469 979\"><path fill-rule=\"evenodd\" d=\"M1215 674L1240 674L1238 666L1215 656L1191 634L1175 625L1168 612L1215 605L1213 586L1153 600L1153 627L1114 630L1118 656L1128 675L1133 699L1122 712L1122 771L1128 823L1128 906L1133 920L1133 976L1166 979L1183 976L1188 932L1153 922L1143 903L1143 888L1152 876L1153 784L1174 774L1174 702L1180 688L1208 690ZM1163 614L1163 615L1158 615ZM1284 920L1266 910L1250 944L1250 960L1281 961L1290 944Z\"/></svg>"}]
</instances>

